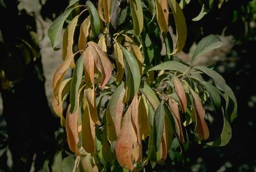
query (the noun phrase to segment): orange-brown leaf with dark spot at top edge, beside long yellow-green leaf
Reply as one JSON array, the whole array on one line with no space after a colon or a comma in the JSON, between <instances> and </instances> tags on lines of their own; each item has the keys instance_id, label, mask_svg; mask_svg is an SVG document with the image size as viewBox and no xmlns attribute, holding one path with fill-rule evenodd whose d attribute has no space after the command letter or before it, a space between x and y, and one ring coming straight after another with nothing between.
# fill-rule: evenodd
<instances>
[{"instance_id":1,"label":"orange-brown leaf with dark spot at top edge, beside long yellow-green leaf","mask_svg":"<svg viewBox=\"0 0 256 172\"><path fill-rule=\"evenodd\" d=\"M167 0L156 0L157 22L161 33L168 31L169 9Z\"/></svg>"}]
</instances>

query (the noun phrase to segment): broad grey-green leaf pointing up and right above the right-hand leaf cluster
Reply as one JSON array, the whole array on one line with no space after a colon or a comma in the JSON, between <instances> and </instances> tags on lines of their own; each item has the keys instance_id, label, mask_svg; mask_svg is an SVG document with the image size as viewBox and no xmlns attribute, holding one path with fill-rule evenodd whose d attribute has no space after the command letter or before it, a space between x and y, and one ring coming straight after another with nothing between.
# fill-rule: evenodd
<instances>
[{"instance_id":1,"label":"broad grey-green leaf pointing up and right above the right-hand leaf cluster","mask_svg":"<svg viewBox=\"0 0 256 172\"><path fill-rule=\"evenodd\" d=\"M212 49L219 48L223 45L220 38L217 35L208 35L207 37L203 38L197 45L197 48L194 51L194 54L191 59L191 64L197 60L200 55L211 51Z\"/></svg>"}]
</instances>

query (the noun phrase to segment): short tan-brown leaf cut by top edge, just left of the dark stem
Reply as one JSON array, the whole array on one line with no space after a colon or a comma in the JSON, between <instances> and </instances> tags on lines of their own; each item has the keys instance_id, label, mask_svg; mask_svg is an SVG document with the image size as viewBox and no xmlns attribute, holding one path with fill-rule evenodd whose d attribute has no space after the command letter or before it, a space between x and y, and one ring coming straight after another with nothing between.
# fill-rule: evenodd
<instances>
[{"instance_id":1,"label":"short tan-brown leaf cut by top edge, just left of the dark stem","mask_svg":"<svg viewBox=\"0 0 256 172\"><path fill-rule=\"evenodd\" d=\"M99 17L107 24L110 22L111 4L112 0L99 0L98 2Z\"/></svg>"}]
</instances>

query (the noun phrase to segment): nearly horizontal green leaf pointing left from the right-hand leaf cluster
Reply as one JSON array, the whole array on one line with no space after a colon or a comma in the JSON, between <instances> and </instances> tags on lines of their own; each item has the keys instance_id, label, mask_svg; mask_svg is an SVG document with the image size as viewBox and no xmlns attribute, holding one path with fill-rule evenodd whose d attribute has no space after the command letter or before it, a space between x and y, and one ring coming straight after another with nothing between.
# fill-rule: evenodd
<instances>
[{"instance_id":1,"label":"nearly horizontal green leaf pointing left from the right-hand leaf cluster","mask_svg":"<svg viewBox=\"0 0 256 172\"><path fill-rule=\"evenodd\" d=\"M166 61L164 63L158 64L157 66L151 68L151 70L174 70L179 71L180 73L184 73L188 69L188 66L186 66L183 63L180 63L178 61Z\"/></svg>"}]
</instances>

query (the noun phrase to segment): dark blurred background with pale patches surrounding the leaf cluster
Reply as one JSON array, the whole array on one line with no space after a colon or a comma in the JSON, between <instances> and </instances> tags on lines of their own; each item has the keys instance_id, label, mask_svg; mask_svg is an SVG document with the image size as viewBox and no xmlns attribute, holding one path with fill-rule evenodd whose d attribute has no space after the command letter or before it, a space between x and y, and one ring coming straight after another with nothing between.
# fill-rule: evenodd
<instances>
[{"instance_id":1,"label":"dark blurred background with pale patches surrounding the leaf cluster","mask_svg":"<svg viewBox=\"0 0 256 172\"><path fill-rule=\"evenodd\" d=\"M0 0L0 171L47 171L56 165L52 162L59 150L69 151L51 107L52 77L62 63L62 51L52 50L47 35L52 20L68 4ZM197 64L214 63L237 97L232 139L225 147L191 142L186 152L173 150L154 170L256 171L256 1L215 0L201 20L193 21L200 10L198 1L185 6L188 37L176 58L189 62L203 37L220 36L224 45L201 56Z\"/></svg>"}]
</instances>

